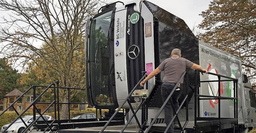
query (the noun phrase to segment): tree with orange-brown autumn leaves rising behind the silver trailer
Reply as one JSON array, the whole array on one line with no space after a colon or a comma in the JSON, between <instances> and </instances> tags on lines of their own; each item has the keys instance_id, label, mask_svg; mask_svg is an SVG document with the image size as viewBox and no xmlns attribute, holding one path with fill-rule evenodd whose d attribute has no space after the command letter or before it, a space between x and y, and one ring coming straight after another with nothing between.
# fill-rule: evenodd
<instances>
[{"instance_id":1,"label":"tree with orange-brown autumn leaves rising behind the silver trailer","mask_svg":"<svg viewBox=\"0 0 256 133\"><path fill-rule=\"evenodd\" d=\"M213 0L200 14L200 40L242 58L243 72L256 80L256 1Z\"/></svg>"}]
</instances>

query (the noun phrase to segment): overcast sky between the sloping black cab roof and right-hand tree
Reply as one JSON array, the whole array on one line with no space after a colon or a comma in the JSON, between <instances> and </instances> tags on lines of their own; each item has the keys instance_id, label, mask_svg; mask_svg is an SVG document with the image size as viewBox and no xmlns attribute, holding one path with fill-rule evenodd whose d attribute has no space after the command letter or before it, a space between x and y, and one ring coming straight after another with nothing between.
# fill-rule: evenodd
<instances>
[{"instance_id":1,"label":"overcast sky between the sloping black cab roof and right-hand tree","mask_svg":"<svg viewBox=\"0 0 256 133\"><path fill-rule=\"evenodd\" d=\"M108 2L121 1L126 3L128 0L107 0ZM198 26L203 20L199 15L202 11L208 9L208 5L212 0L147 0L152 2L164 10L183 19L190 29ZM196 29L197 31L199 29Z\"/></svg>"}]
</instances>

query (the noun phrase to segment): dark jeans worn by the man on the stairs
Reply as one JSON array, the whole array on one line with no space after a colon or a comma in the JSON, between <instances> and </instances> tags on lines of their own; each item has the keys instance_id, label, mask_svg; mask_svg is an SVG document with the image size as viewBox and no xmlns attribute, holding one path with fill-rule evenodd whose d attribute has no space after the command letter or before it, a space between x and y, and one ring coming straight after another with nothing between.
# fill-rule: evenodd
<instances>
[{"instance_id":1,"label":"dark jeans worn by the man on the stairs","mask_svg":"<svg viewBox=\"0 0 256 133\"><path fill-rule=\"evenodd\" d=\"M174 112L172 111L171 102L174 105L175 111L177 111L179 108L178 99L182 93L182 87L177 87L176 89L178 89L178 88L180 88L180 90L174 91L174 93L172 94L172 96L170 97L170 99L168 100L166 105L164 106L164 119L165 119L166 126L169 125L169 123L172 120L173 114L174 114ZM166 99L168 98L168 96L170 95L170 93L172 92L173 89L174 89L174 85L162 84L161 95L162 95L163 103L164 103L164 101L166 101ZM177 119L174 119L173 123L175 123L175 122L177 122ZM168 129L168 132L173 132L173 123L170 126L170 128Z\"/></svg>"}]
</instances>

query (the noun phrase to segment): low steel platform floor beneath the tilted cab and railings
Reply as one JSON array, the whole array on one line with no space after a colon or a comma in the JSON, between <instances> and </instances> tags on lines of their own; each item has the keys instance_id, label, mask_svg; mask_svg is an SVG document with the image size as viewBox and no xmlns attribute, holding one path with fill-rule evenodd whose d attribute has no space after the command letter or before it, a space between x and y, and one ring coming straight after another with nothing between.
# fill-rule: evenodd
<instances>
[{"instance_id":1,"label":"low steel platform floor beneath the tilted cab and railings","mask_svg":"<svg viewBox=\"0 0 256 133\"><path fill-rule=\"evenodd\" d=\"M221 129L228 129L234 127L237 119L222 119L222 120L214 120L214 121L197 121L197 132L204 133L208 131L217 131ZM183 127L185 122L181 122L181 126ZM86 127L86 128L76 128L76 129L61 129L59 133L99 133L103 126L100 127ZM104 130L103 133L120 133L124 125L114 125L108 126ZM145 129L148 125L145 126ZM144 129L144 130L145 130ZM163 133L166 129L165 123L154 124L150 131L154 131L152 133ZM194 129L194 121L188 121L185 130L187 133L192 133ZM137 133L139 130L138 125L128 125L123 133ZM175 133L180 133L180 127L174 127Z\"/></svg>"}]
</instances>

